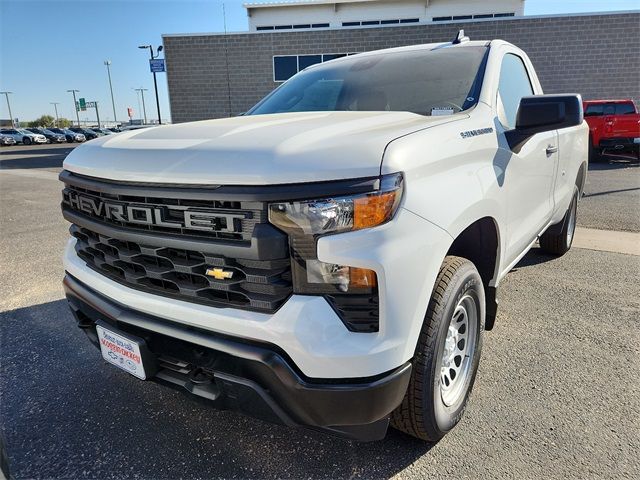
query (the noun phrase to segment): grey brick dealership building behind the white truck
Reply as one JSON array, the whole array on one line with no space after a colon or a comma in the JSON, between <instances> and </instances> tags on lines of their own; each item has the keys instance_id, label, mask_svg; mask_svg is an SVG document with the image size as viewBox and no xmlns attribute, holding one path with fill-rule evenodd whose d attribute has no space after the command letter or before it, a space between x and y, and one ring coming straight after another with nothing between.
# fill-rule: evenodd
<instances>
[{"instance_id":1,"label":"grey brick dealership building behind the white truck","mask_svg":"<svg viewBox=\"0 0 640 480\"><path fill-rule=\"evenodd\" d=\"M500 38L546 93L640 100L640 11L524 16L523 0L246 3L249 31L163 35L173 122L238 115L298 71L369 50Z\"/></svg>"}]
</instances>

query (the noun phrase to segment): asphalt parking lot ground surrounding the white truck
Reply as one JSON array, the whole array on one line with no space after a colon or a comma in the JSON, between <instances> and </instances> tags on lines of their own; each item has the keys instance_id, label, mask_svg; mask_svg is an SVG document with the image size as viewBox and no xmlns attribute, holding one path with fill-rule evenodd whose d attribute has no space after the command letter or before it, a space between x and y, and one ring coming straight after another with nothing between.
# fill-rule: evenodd
<instances>
[{"instance_id":1,"label":"asphalt parking lot ground surrounding the white truck","mask_svg":"<svg viewBox=\"0 0 640 480\"><path fill-rule=\"evenodd\" d=\"M559 259L534 249L506 277L454 431L435 445L394 430L358 444L215 411L101 359L75 327L61 286L68 225L57 173L72 148L0 151L0 426L15 478L583 479L640 471L637 166L595 165L574 248Z\"/></svg>"}]
</instances>

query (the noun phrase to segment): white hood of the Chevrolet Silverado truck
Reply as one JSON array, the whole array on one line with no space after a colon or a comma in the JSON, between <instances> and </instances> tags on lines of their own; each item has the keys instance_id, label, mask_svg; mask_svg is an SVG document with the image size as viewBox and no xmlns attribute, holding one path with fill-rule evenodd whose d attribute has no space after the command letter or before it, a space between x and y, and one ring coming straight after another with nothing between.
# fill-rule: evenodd
<instances>
[{"instance_id":1,"label":"white hood of the Chevrolet Silverado truck","mask_svg":"<svg viewBox=\"0 0 640 480\"><path fill-rule=\"evenodd\" d=\"M182 123L77 147L64 168L132 182L267 185L380 174L389 142L467 118L407 112L301 112Z\"/></svg>"}]
</instances>

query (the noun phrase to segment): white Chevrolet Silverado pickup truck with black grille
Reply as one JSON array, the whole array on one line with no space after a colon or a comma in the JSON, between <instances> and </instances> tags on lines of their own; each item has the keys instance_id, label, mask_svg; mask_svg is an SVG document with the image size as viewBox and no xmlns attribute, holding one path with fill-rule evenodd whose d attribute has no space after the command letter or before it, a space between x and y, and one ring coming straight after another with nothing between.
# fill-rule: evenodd
<instances>
[{"instance_id":1,"label":"white Chevrolet Silverado pickup truck with black grille","mask_svg":"<svg viewBox=\"0 0 640 480\"><path fill-rule=\"evenodd\" d=\"M571 247L587 148L580 96L504 41L314 65L242 116L76 148L68 302L104 360L214 407L438 440L501 280Z\"/></svg>"}]
</instances>

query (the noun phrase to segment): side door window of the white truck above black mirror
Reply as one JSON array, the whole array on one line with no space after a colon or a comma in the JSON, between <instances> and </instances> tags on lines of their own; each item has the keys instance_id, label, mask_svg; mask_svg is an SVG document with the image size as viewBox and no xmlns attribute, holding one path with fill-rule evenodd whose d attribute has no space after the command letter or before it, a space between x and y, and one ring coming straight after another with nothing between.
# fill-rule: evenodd
<instances>
[{"instance_id":1,"label":"side door window of the white truck above black mirror","mask_svg":"<svg viewBox=\"0 0 640 480\"><path fill-rule=\"evenodd\" d=\"M505 55L498 85L498 117L505 127L515 128L520 100L529 95L533 95L533 87L522 59L511 53Z\"/></svg>"}]
</instances>

